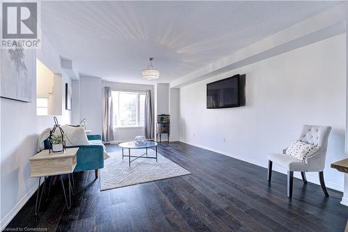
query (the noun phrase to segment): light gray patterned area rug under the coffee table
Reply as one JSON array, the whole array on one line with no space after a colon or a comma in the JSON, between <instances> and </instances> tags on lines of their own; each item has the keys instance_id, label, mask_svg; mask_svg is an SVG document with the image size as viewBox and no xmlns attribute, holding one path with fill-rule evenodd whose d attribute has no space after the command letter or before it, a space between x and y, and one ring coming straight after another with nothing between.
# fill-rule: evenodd
<instances>
[{"instance_id":1,"label":"light gray patterned area rug under the coffee table","mask_svg":"<svg viewBox=\"0 0 348 232\"><path fill-rule=\"evenodd\" d=\"M144 151L131 150L131 155L141 155ZM125 155L128 150L125 149ZM176 176L190 174L171 160L166 159L158 153L158 162L155 159L139 158L128 164L128 157L122 160L122 150L109 153L109 159L104 161L104 169L100 169L100 190L111 190L118 187L147 183L155 180L163 180ZM155 157L155 150L148 150L148 156ZM134 157L131 157L134 159Z\"/></svg>"}]
</instances>

